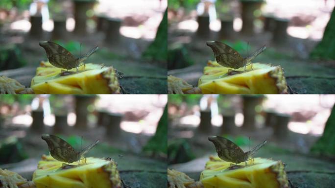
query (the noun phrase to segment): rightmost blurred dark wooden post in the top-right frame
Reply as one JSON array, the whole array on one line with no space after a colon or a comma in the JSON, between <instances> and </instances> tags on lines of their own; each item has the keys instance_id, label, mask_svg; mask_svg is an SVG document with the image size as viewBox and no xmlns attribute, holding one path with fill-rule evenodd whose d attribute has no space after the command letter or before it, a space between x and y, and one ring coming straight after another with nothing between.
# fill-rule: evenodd
<instances>
[{"instance_id":1,"label":"rightmost blurred dark wooden post in the top-right frame","mask_svg":"<svg viewBox=\"0 0 335 188\"><path fill-rule=\"evenodd\" d=\"M275 29L273 30L272 40L277 45L284 45L287 42L287 27L289 20L275 19Z\"/></svg>"}]
</instances>

